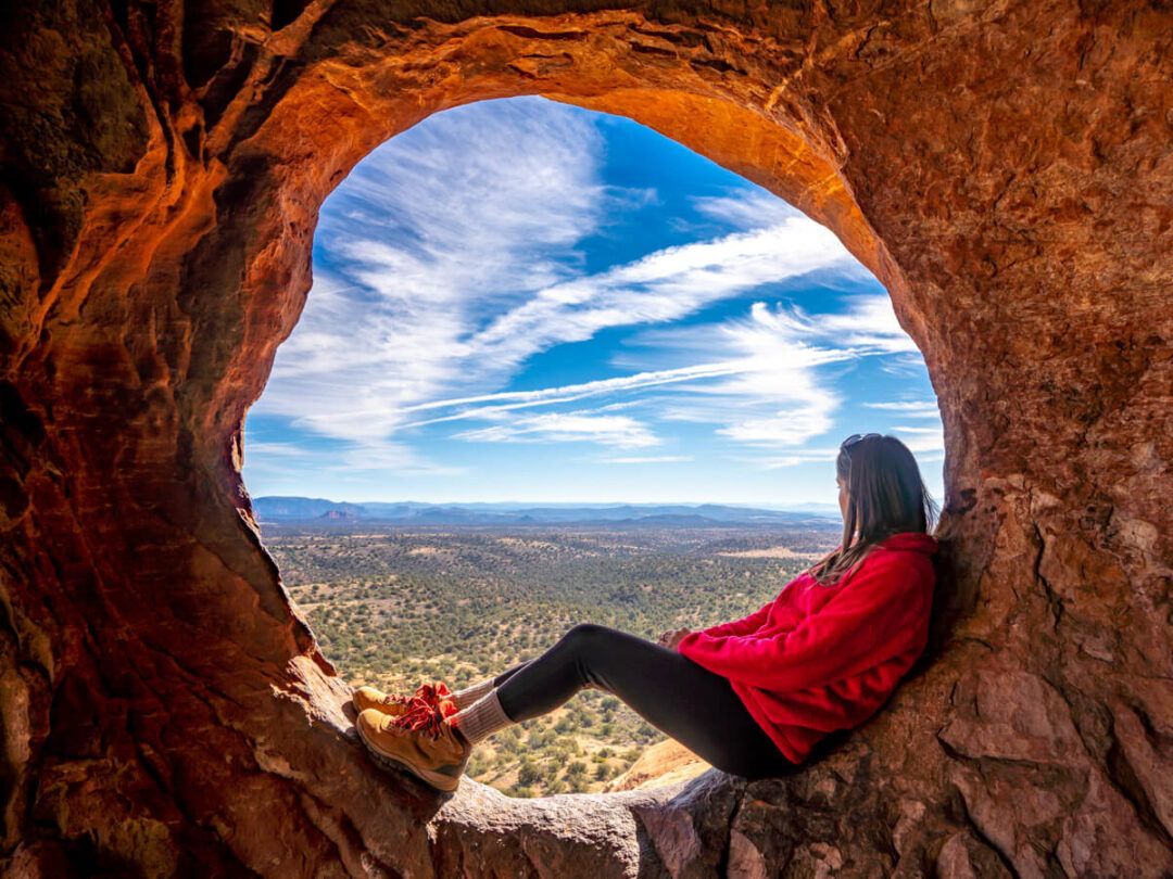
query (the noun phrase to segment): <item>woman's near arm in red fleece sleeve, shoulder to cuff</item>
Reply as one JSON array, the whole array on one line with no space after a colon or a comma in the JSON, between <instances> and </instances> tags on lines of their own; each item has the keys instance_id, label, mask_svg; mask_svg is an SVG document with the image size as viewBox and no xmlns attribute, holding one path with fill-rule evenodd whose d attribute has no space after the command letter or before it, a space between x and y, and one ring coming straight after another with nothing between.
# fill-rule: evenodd
<instances>
[{"instance_id":1,"label":"woman's near arm in red fleece sleeve, shoulder to cuff","mask_svg":"<svg viewBox=\"0 0 1173 879\"><path fill-rule=\"evenodd\" d=\"M915 646L923 648L933 574L907 556L877 556L839 594L774 636L693 632L677 650L710 672L762 689L822 687Z\"/></svg>"}]
</instances>

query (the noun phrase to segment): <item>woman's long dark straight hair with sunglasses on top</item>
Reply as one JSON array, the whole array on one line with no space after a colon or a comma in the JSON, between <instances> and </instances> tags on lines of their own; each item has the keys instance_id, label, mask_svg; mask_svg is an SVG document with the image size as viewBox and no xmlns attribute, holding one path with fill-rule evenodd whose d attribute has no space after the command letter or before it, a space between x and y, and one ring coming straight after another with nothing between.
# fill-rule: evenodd
<instances>
[{"instance_id":1,"label":"woman's long dark straight hair with sunglasses on top","mask_svg":"<svg viewBox=\"0 0 1173 879\"><path fill-rule=\"evenodd\" d=\"M853 434L839 447L835 471L847 485L847 512L842 541L811 567L822 586L838 582L884 538L928 533L940 515L916 458L894 436Z\"/></svg>"}]
</instances>

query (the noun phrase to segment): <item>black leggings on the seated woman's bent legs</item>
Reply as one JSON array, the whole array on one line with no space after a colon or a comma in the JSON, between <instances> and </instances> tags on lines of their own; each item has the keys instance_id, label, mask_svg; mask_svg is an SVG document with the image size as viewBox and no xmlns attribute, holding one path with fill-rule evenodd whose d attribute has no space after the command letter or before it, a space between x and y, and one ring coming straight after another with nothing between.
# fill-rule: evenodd
<instances>
[{"instance_id":1,"label":"black leggings on the seated woman's bent legs","mask_svg":"<svg viewBox=\"0 0 1173 879\"><path fill-rule=\"evenodd\" d=\"M541 656L494 679L515 723L552 711L595 684L712 765L744 778L794 771L730 682L662 645L582 624Z\"/></svg>"}]
</instances>

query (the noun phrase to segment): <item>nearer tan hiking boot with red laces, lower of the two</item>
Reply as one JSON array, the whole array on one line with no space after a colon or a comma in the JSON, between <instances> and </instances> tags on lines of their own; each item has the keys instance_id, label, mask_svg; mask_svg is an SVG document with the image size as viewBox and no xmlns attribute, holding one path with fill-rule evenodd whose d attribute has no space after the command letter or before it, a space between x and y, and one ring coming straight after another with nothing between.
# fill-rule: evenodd
<instances>
[{"instance_id":1,"label":"nearer tan hiking boot with red laces, lower of the two","mask_svg":"<svg viewBox=\"0 0 1173 879\"><path fill-rule=\"evenodd\" d=\"M448 725L441 706L413 699L408 710L398 716L368 708L359 714L355 727L371 756L382 765L412 772L430 786L450 793L460 785L473 745ZM455 708L455 706L453 706Z\"/></svg>"}]
</instances>

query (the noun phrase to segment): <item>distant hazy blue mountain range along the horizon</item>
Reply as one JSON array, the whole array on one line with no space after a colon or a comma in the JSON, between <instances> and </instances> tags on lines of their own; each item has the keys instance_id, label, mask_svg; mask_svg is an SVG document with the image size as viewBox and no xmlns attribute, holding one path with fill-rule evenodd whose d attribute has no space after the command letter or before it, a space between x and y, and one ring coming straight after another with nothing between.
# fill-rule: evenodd
<instances>
[{"instance_id":1,"label":"distant hazy blue mountain range along the horizon","mask_svg":"<svg viewBox=\"0 0 1173 879\"><path fill-rule=\"evenodd\" d=\"M258 497L252 509L270 523L385 523L401 525L622 525L625 527L734 527L786 525L825 529L840 524L834 504L761 510L723 504L425 504L415 500L351 504L308 497Z\"/></svg>"}]
</instances>

